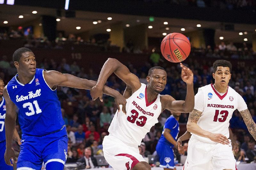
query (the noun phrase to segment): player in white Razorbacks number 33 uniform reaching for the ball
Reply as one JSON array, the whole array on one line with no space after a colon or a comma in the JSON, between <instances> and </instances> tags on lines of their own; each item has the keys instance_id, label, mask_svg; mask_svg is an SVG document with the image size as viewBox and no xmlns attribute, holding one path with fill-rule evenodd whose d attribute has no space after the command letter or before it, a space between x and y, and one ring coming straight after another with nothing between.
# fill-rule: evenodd
<instances>
[{"instance_id":1,"label":"player in white Razorbacks number 33 uniform reaching for the ball","mask_svg":"<svg viewBox=\"0 0 256 170\"><path fill-rule=\"evenodd\" d=\"M107 162L115 170L149 170L150 165L139 153L138 145L158 121L159 114L167 109L172 112L191 112L194 107L192 71L180 63L181 78L187 83L186 100L176 101L169 95L159 95L166 85L164 68L156 66L148 71L148 85L140 83L139 78L114 58L109 58L101 69L98 83L92 88L93 100L100 97L102 87L108 77L115 73L126 83L124 97L126 109L116 112L103 140L103 152Z\"/></svg>"}]
</instances>

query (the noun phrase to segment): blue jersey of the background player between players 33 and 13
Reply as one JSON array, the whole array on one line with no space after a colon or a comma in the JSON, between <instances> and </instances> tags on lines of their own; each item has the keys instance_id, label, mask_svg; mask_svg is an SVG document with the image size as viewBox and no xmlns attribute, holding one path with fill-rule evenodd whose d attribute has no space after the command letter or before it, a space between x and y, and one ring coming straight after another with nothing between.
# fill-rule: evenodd
<instances>
[{"instance_id":1,"label":"blue jersey of the background player between players 33 and 13","mask_svg":"<svg viewBox=\"0 0 256 170\"><path fill-rule=\"evenodd\" d=\"M174 116L170 116L166 122L164 123L164 128L167 128L167 129L170 129L171 132L170 134L172 135L172 137L175 139L175 141L177 141L177 137L179 135L179 132L180 132L180 126L179 126L179 122L174 118ZM165 137L164 137L164 129L163 129L163 132L162 132L162 135L158 141L159 142L162 142L162 143L165 143L167 145L170 145L172 148L173 148L173 144L170 143Z\"/></svg>"}]
</instances>

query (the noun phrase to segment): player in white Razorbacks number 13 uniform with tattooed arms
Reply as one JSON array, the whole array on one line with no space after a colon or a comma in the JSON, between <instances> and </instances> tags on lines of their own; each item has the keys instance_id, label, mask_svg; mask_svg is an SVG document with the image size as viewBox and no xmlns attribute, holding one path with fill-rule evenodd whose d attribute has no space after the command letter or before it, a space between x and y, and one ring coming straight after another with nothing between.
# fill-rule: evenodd
<instances>
[{"instance_id":1,"label":"player in white Razorbacks number 13 uniform with tattooed arms","mask_svg":"<svg viewBox=\"0 0 256 170\"><path fill-rule=\"evenodd\" d=\"M256 124L247 109L244 99L228 82L232 65L226 60L213 63L214 84L198 89L195 107L189 113L187 129L192 133L188 143L188 170L236 170L229 138L229 120L237 109L256 139Z\"/></svg>"}]
</instances>

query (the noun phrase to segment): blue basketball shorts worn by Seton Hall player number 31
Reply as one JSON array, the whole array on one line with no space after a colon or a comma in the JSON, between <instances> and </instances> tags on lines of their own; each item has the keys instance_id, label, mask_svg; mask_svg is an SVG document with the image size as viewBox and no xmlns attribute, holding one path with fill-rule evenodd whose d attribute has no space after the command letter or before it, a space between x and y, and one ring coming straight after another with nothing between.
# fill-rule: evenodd
<instances>
[{"instance_id":1,"label":"blue basketball shorts worn by Seton Hall player number 31","mask_svg":"<svg viewBox=\"0 0 256 170\"><path fill-rule=\"evenodd\" d=\"M22 135L17 170L41 170L49 162L60 162L65 165L68 152L68 136L66 127L62 130L41 137ZM57 169L55 169L57 170Z\"/></svg>"}]
</instances>

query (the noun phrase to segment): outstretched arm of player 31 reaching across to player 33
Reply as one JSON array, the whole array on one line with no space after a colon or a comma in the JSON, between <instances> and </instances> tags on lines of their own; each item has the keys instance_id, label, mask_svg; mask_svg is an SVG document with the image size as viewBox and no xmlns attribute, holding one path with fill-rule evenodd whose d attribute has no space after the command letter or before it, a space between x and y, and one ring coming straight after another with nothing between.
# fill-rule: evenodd
<instances>
[{"instance_id":1,"label":"outstretched arm of player 31 reaching across to player 33","mask_svg":"<svg viewBox=\"0 0 256 170\"><path fill-rule=\"evenodd\" d=\"M96 81L81 79L71 74L62 74L54 70L44 71L44 78L50 88L55 86L66 86L77 89L91 90L92 87L96 85ZM111 89L108 86L103 86L102 89L104 94L115 97L116 105L119 111L119 104L122 104L123 108L125 109L126 100L118 91Z\"/></svg>"}]
</instances>

